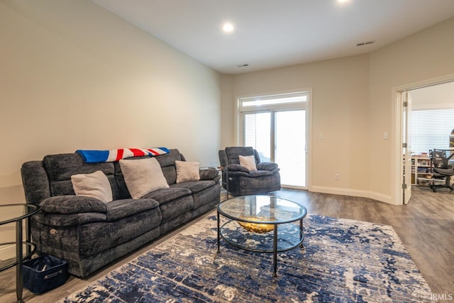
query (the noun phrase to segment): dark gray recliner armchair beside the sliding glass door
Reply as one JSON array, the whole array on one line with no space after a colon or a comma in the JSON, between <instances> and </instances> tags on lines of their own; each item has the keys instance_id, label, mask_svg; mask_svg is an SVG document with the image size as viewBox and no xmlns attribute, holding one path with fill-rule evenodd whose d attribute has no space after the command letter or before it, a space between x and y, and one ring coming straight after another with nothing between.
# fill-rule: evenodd
<instances>
[{"instance_id":1,"label":"dark gray recliner armchair beside the sliding glass door","mask_svg":"<svg viewBox=\"0 0 454 303\"><path fill-rule=\"evenodd\" d=\"M248 170L240 165L239 156L254 156L257 170ZM223 187L233 196L248 194L267 194L281 189L281 177L276 163L260 162L257 150L252 147L228 147L219 150L219 162L224 167L222 172ZM227 180L228 175L228 180Z\"/></svg>"}]
</instances>

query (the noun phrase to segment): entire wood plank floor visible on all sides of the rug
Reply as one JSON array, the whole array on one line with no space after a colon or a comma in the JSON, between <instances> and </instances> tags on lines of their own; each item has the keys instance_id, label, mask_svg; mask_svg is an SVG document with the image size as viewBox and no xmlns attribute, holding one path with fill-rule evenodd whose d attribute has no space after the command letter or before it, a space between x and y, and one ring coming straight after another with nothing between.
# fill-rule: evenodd
<instances>
[{"instance_id":1,"label":"entire wood plank floor visible on all sides of the rug","mask_svg":"<svg viewBox=\"0 0 454 303\"><path fill-rule=\"evenodd\" d=\"M296 189L282 189L272 194L304 205L309 214L393 226L433 293L444 294L445 297L451 294L451 297L454 297L454 194L447 189L440 189L434 193L427 187L414 187L409 204L404 206L389 205L372 199L318 194ZM126 258L99 270L86 280L71 276L65 285L39 296L24 289L23 299L31 303L56 302L177 232L178 230L135 251ZM0 272L0 285L0 302L16 302L13 268Z\"/></svg>"}]
</instances>

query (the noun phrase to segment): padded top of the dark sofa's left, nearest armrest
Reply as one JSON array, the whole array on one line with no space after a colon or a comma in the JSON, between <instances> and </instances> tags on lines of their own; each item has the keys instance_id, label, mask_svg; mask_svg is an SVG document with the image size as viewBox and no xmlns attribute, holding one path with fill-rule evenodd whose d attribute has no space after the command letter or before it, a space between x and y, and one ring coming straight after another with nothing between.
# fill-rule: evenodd
<instances>
[{"instance_id":1,"label":"padded top of the dark sofa's left, nearest armrest","mask_svg":"<svg viewBox=\"0 0 454 303\"><path fill-rule=\"evenodd\" d=\"M107 213L106 203L92 197L55 196L44 199L41 211L51 214Z\"/></svg>"}]
</instances>

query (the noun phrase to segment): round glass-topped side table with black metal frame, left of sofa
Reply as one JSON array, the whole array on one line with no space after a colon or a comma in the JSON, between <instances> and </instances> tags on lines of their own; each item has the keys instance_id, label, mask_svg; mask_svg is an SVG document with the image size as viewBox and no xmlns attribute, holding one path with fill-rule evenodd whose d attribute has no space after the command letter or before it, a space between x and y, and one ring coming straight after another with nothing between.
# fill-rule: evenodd
<instances>
[{"instance_id":1,"label":"round glass-topped side table with black metal frame, left of sofa","mask_svg":"<svg viewBox=\"0 0 454 303\"><path fill-rule=\"evenodd\" d=\"M35 253L35 245L31 243L30 217L40 211L40 206L33 204L6 204L0 205L0 225L16 222L16 242L1 243L0 246L16 245L16 258L0 263L0 271L16 266L16 297L22 301L23 270L22 261ZM23 241L22 225L26 220L26 241ZM25 250L24 250L25 248Z\"/></svg>"}]
</instances>

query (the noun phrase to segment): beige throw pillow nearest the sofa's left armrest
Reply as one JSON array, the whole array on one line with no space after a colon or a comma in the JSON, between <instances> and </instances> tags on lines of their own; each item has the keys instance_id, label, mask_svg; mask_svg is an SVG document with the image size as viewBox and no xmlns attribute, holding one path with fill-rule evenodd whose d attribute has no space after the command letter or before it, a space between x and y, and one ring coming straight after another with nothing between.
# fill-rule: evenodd
<instances>
[{"instance_id":1,"label":"beige throw pillow nearest the sofa's left armrest","mask_svg":"<svg viewBox=\"0 0 454 303\"><path fill-rule=\"evenodd\" d=\"M111 184L101 170L91 174L72 175L71 182L77 196L92 197L102 202L112 201Z\"/></svg>"}]
</instances>

